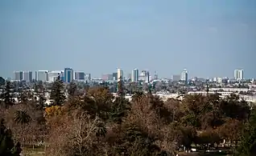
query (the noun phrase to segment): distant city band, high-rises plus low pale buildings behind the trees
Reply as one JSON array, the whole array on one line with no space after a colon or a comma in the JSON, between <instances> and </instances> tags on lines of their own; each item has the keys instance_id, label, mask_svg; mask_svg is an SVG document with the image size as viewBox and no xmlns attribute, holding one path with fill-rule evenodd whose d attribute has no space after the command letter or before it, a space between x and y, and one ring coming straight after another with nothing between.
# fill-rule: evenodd
<instances>
[{"instance_id":1,"label":"distant city band, high-rises plus low pale buildings behind the trees","mask_svg":"<svg viewBox=\"0 0 256 156\"><path fill-rule=\"evenodd\" d=\"M237 94L247 102L256 102L256 82L254 78L245 79L244 70L234 70L233 78L188 78L188 70L181 74L172 75L171 79L159 78L157 72L150 74L147 70L139 72L138 69L131 71L126 76L122 69L113 74L102 74L101 78L92 78L91 74L83 71L74 71L72 68L64 70L38 70L14 71L12 82L23 83L33 90L34 82L43 82L45 86L60 78L64 84L76 82L80 86L108 86L113 94L118 93L118 82L123 82L126 88L126 98L131 99L134 91L141 90L158 95L163 100L168 98L183 98L182 94L219 94L222 98L230 94ZM48 91L50 92L50 90ZM47 104L51 103L49 94L46 94Z\"/></svg>"}]
</instances>

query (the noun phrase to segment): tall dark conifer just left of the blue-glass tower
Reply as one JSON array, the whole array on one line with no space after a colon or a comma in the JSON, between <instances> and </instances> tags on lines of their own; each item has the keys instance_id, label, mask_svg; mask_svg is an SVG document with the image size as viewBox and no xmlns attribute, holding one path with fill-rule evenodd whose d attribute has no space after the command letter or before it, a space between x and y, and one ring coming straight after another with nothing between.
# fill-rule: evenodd
<instances>
[{"instance_id":1,"label":"tall dark conifer just left of the blue-glass tower","mask_svg":"<svg viewBox=\"0 0 256 156\"><path fill-rule=\"evenodd\" d=\"M56 82L52 83L51 99L54 101L54 106L61 106L64 103L64 84L60 79L60 76L56 79Z\"/></svg>"}]
</instances>

